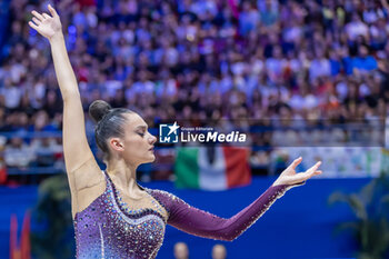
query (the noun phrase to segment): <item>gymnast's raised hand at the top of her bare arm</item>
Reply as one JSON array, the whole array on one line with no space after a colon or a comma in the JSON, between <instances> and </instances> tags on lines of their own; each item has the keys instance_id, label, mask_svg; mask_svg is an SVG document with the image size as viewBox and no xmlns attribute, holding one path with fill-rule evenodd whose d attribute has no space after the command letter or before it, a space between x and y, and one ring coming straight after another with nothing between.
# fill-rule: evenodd
<instances>
[{"instance_id":1,"label":"gymnast's raised hand at the top of her bare arm","mask_svg":"<svg viewBox=\"0 0 389 259\"><path fill-rule=\"evenodd\" d=\"M33 14L32 21L29 21L29 26L48 40L52 40L56 36L62 34L62 24L57 11L50 4L48 9L51 16L33 10L31 12Z\"/></svg>"}]
</instances>

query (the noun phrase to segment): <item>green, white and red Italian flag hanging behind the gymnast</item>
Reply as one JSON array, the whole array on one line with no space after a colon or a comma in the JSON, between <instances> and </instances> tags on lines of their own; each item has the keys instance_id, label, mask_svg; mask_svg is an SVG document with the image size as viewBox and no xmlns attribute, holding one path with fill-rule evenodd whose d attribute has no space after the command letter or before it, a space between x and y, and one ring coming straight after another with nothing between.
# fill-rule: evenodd
<instances>
[{"instance_id":1,"label":"green, white and red Italian flag hanging behind the gymnast","mask_svg":"<svg viewBox=\"0 0 389 259\"><path fill-rule=\"evenodd\" d=\"M179 148L174 162L176 187L216 191L249 185L248 159L246 148Z\"/></svg>"}]
</instances>

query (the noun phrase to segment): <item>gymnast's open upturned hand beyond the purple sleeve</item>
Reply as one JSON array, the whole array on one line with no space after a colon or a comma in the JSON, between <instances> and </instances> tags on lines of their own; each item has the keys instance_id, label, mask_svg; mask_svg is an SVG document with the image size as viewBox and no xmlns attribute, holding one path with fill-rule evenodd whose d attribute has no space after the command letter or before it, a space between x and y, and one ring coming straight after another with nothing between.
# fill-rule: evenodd
<instances>
[{"instance_id":1,"label":"gymnast's open upturned hand beyond the purple sleeve","mask_svg":"<svg viewBox=\"0 0 389 259\"><path fill-rule=\"evenodd\" d=\"M318 176L322 173L318 168L321 165L321 161L317 162L313 167L309 168L305 172L296 173L296 167L302 161L302 158L299 157L296 159L287 169L282 171L282 173L278 177L278 179L272 183L272 186L278 185L296 185L299 182L303 182L311 177Z\"/></svg>"}]
</instances>

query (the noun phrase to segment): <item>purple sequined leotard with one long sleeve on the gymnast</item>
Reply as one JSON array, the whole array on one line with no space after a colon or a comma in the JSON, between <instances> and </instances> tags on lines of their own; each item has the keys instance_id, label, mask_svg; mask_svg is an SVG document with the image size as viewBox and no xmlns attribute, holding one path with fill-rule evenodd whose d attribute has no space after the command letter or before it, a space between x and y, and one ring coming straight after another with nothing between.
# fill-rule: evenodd
<instances>
[{"instance_id":1,"label":"purple sequined leotard with one long sleeve on the gymnast","mask_svg":"<svg viewBox=\"0 0 389 259\"><path fill-rule=\"evenodd\" d=\"M293 186L267 189L257 200L230 219L199 210L161 190L143 188L150 206L131 209L121 200L108 173L106 191L74 217L77 258L156 258L169 223L199 237L233 240L255 223Z\"/></svg>"}]
</instances>

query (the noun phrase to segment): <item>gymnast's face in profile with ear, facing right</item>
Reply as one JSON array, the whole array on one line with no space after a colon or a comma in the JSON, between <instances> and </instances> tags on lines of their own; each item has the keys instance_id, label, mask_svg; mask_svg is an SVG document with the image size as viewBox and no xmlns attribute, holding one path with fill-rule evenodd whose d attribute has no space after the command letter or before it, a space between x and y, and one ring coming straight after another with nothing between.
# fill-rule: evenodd
<instances>
[{"instance_id":1,"label":"gymnast's face in profile with ear, facing right","mask_svg":"<svg viewBox=\"0 0 389 259\"><path fill-rule=\"evenodd\" d=\"M153 145L157 138L148 131L144 120L137 113L126 113L127 123L123 138L112 138L111 147L131 165L153 162L156 160Z\"/></svg>"}]
</instances>

